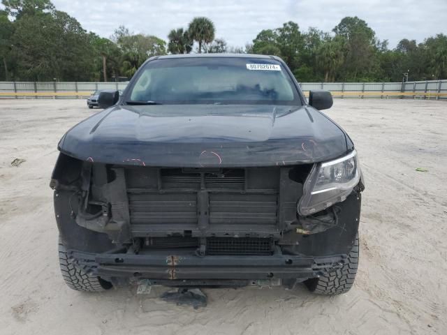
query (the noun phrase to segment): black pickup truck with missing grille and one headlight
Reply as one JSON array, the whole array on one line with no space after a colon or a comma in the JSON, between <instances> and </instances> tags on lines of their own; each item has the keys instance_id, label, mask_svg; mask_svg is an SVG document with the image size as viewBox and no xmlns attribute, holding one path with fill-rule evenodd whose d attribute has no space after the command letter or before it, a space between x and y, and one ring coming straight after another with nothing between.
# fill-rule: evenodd
<instances>
[{"instance_id":1,"label":"black pickup truck with missing grille and one headlight","mask_svg":"<svg viewBox=\"0 0 447 335\"><path fill-rule=\"evenodd\" d=\"M69 287L351 288L364 186L328 91L307 101L278 57L190 54L98 103L50 183Z\"/></svg>"}]
</instances>

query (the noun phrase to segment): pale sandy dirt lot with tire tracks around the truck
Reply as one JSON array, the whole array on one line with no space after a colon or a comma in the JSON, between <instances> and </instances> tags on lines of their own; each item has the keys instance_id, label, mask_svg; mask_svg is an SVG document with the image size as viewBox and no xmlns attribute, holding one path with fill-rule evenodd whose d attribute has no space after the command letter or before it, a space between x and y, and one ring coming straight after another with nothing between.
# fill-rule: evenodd
<instances>
[{"instance_id":1,"label":"pale sandy dirt lot with tire tracks around the truck","mask_svg":"<svg viewBox=\"0 0 447 335\"><path fill-rule=\"evenodd\" d=\"M59 138L91 113L85 101L0 101L0 334L447 334L447 102L336 100L328 112L367 181L348 294L205 290L197 311L62 281L48 183Z\"/></svg>"}]
</instances>

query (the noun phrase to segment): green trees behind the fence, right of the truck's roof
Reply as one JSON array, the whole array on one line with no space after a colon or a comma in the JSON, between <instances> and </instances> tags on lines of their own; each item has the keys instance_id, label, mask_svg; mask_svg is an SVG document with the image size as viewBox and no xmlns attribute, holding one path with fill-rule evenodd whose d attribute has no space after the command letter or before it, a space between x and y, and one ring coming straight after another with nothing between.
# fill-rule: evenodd
<instances>
[{"instance_id":1,"label":"green trees behind the fence, right of the truck's roof","mask_svg":"<svg viewBox=\"0 0 447 335\"><path fill-rule=\"evenodd\" d=\"M265 29L247 52L281 57L300 81L400 82L406 72L411 80L446 78L446 40L443 34L419 45L403 39L389 50L364 20L344 17L332 35L316 28L300 32L295 22Z\"/></svg>"}]
</instances>

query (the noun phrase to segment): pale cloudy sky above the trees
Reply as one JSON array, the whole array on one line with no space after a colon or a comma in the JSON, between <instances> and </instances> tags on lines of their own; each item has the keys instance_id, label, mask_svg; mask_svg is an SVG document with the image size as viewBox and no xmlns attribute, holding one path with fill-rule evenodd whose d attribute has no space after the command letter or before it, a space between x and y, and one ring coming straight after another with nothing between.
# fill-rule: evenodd
<instances>
[{"instance_id":1,"label":"pale cloudy sky above the trees","mask_svg":"<svg viewBox=\"0 0 447 335\"><path fill-rule=\"evenodd\" d=\"M167 39L170 29L187 27L193 17L209 17L216 37L228 45L250 43L262 29L289 20L300 30L330 31L345 16L358 16L387 39L390 47L402 38L422 41L447 34L447 0L52 0L59 10L76 17L82 26L110 37L119 25L135 33Z\"/></svg>"}]
</instances>

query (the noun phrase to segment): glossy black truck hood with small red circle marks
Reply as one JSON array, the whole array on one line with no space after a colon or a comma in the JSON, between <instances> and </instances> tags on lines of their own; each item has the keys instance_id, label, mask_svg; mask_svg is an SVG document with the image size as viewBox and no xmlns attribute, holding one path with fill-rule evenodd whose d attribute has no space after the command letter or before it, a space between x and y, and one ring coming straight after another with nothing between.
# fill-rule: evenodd
<instances>
[{"instance_id":1,"label":"glossy black truck hood with small red circle marks","mask_svg":"<svg viewBox=\"0 0 447 335\"><path fill-rule=\"evenodd\" d=\"M346 154L346 135L313 107L117 105L71 128L64 154L161 167L315 163Z\"/></svg>"}]
</instances>

